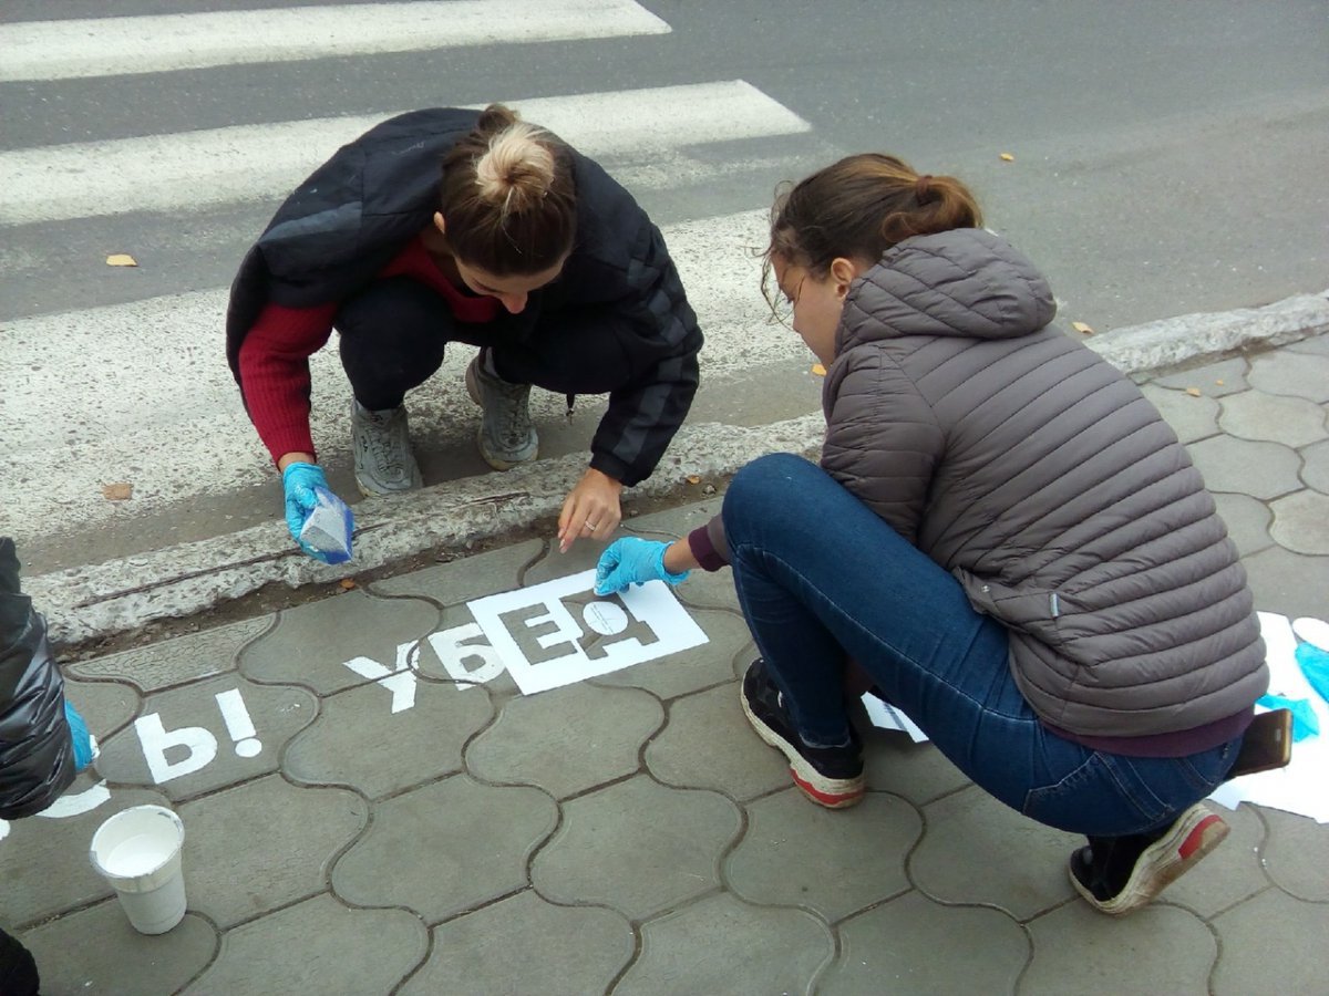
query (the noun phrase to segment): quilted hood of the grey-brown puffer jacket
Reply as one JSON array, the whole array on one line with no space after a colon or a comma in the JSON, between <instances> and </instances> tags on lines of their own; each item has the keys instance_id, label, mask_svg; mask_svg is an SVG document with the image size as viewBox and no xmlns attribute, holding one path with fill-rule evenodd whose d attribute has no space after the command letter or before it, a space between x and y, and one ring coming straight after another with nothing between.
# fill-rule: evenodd
<instances>
[{"instance_id":1,"label":"quilted hood of the grey-brown puffer jacket","mask_svg":"<svg viewBox=\"0 0 1329 996\"><path fill-rule=\"evenodd\" d=\"M892 336L1015 339L1053 320L1046 278L1009 242L953 228L892 246L849 290L836 353Z\"/></svg>"}]
</instances>

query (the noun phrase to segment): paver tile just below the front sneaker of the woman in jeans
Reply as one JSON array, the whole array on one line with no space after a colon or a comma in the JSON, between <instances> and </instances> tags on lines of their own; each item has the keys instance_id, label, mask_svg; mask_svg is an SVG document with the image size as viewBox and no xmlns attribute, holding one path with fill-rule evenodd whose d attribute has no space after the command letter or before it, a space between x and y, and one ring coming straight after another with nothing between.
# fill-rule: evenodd
<instances>
[{"instance_id":1,"label":"paver tile just below the front sneaker of the woman in jeans","mask_svg":"<svg viewBox=\"0 0 1329 996\"><path fill-rule=\"evenodd\" d=\"M869 791L852 809L829 810L789 786L747 811L724 878L750 902L801 906L833 922L909 888L905 855L922 821L904 799Z\"/></svg>"}]
</instances>

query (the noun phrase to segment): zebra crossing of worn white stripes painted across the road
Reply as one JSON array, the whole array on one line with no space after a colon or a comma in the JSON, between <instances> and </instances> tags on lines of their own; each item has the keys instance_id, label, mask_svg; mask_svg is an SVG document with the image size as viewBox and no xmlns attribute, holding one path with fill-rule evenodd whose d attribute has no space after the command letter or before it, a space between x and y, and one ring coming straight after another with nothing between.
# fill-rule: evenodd
<instances>
[{"instance_id":1,"label":"zebra crossing of worn white stripes painted across the road","mask_svg":"<svg viewBox=\"0 0 1329 996\"><path fill-rule=\"evenodd\" d=\"M466 45L520 58L533 44L607 44L668 32L630 0L20 21L0 25L0 93L12 105L126 74L159 74L166 88L209 66L286 62L319 72L330 56L380 58ZM752 369L789 361L805 369L801 343L767 327L752 250L764 244L771 175L796 177L828 158L807 120L723 73L607 90L496 92L466 105L489 100L597 158L653 211L707 333L699 408L708 389ZM185 523L183 538L279 518L275 478L222 356L227 282L295 183L339 145L425 102L163 133L153 131L145 109L133 134L0 150L0 291L19 301L16 311L0 305L0 437L9 463L0 478L0 517L27 548L29 570L141 552L170 538L175 527L162 523L173 517ZM714 203L698 216L675 207L662 218L653 207L657 194L683 205L690 191L742 187L744 175L754 182L722 214L711 212ZM70 266L102 267L113 252L134 256L138 268L98 271L85 287L62 287L65 297L84 295L80 307L41 305L33 288L58 283ZM150 292L137 293L136 284ZM425 413L431 441L461 446L473 432L460 389L469 355L451 352L412 406ZM335 351L324 349L314 357L314 433L330 469L350 459L346 392ZM542 410L537 404L537 417ZM554 412L550 401L546 413ZM132 499L108 501L102 489L113 482L132 483Z\"/></svg>"}]
</instances>

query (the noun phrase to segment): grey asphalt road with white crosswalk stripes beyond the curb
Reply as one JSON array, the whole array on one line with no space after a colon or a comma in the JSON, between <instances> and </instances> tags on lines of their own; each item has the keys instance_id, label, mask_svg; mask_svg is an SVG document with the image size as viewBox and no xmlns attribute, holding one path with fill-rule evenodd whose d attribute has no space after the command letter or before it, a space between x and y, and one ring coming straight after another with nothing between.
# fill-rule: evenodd
<instances>
[{"instance_id":1,"label":"grey asphalt road with white crosswalk stripes beyond the curb","mask_svg":"<svg viewBox=\"0 0 1329 996\"><path fill-rule=\"evenodd\" d=\"M694 417L716 424L816 406L809 357L763 324L742 250L760 243L777 182L849 151L970 182L987 223L1045 267L1063 320L1100 332L1329 286L1322 1L645 0L655 24L641 32L492 44L481 31L468 44L315 58L259 52L274 36L294 49L311 39L262 21L302 4L250 11L255 1L116 4L120 17L249 11L254 50L242 32L218 65L159 68L145 52L145 72L57 78L39 60L17 78L0 54L0 440L12 462L0 529L20 537L29 571L278 517L266 456L226 384L219 308L282 193L247 170L304 162L280 130L298 122L489 100L565 116L574 143L603 143L602 161L680 258L711 333L715 389ZM500 37L514 23L497 3L456 7ZM363 8L365 37L404 16ZM104 16L96 0L8 0L0 52L15 50L3 32L33 21ZM96 53L105 32L80 32ZM682 89L698 86L710 89ZM655 97L614 104L639 92ZM679 114L672 130L651 130L666 110ZM690 131L694 112L711 113L706 134ZM256 143L217 143L233 138ZM218 194L229 173L242 191ZM108 267L110 252L140 266ZM340 406L335 364L323 382L324 404ZM421 441L431 483L482 470L472 430L447 425L455 400L427 408L441 420ZM594 417L590 406L552 428L553 452L583 446ZM334 482L347 481L344 450L328 446ZM137 481L136 505L110 510L97 485L122 479Z\"/></svg>"}]
</instances>

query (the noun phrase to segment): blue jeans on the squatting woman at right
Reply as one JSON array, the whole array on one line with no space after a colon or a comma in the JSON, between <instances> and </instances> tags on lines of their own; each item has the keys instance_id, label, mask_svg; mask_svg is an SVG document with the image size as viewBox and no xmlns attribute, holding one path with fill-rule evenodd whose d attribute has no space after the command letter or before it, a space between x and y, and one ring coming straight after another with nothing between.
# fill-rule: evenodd
<instances>
[{"instance_id":1,"label":"blue jeans on the squatting woman at right","mask_svg":"<svg viewBox=\"0 0 1329 996\"><path fill-rule=\"evenodd\" d=\"M1239 740L1140 758L1050 733L1015 688L1005 625L974 611L958 580L800 457L743 467L722 515L739 606L809 744L848 736L848 656L975 785L1062 830L1120 837L1167 826L1236 757Z\"/></svg>"}]
</instances>

